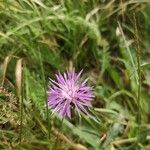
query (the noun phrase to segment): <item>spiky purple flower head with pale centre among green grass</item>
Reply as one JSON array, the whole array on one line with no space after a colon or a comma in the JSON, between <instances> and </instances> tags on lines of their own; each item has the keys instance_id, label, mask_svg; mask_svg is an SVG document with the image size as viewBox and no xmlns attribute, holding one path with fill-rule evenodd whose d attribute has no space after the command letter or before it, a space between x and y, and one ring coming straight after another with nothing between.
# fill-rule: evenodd
<instances>
[{"instance_id":1,"label":"spiky purple flower head with pale centre among green grass","mask_svg":"<svg viewBox=\"0 0 150 150\"><path fill-rule=\"evenodd\" d=\"M50 79L51 87L48 91L48 105L61 117L71 118L71 110L80 116L81 112L88 114L87 108L91 107L94 98L93 88L86 85L88 79L82 81L75 71L67 71L63 75L56 74L56 81Z\"/></svg>"}]
</instances>

